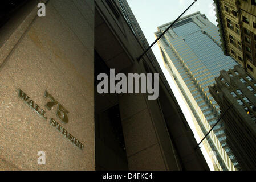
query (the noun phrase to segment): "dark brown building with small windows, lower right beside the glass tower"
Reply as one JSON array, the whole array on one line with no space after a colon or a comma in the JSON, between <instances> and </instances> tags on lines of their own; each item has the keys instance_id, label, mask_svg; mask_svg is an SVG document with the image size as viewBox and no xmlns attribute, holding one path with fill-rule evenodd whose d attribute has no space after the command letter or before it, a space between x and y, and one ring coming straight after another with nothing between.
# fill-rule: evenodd
<instances>
[{"instance_id":1,"label":"dark brown building with small windows, lower right beside the glass tower","mask_svg":"<svg viewBox=\"0 0 256 182\"><path fill-rule=\"evenodd\" d=\"M221 111L227 110L223 117L227 144L239 166L256 170L256 80L236 65L221 71L209 89Z\"/></svg>"}]
</instances>

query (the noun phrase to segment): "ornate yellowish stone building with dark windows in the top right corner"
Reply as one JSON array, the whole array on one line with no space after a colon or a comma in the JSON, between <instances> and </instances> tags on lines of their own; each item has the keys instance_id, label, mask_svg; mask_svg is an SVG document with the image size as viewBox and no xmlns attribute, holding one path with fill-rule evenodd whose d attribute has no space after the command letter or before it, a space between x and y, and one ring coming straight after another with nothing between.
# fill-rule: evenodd
<instances>
[{"instance_id":1,"label":"ornate yellowish stone building with dark windows in the top right corner","mask_svg":"<svg viewBox=\"0 0 256 182\"><path fill-rule=\"evenodd\" d=\"M256 0L214 0L222 49L256 78Z\"/></svg>"}]
</instances>

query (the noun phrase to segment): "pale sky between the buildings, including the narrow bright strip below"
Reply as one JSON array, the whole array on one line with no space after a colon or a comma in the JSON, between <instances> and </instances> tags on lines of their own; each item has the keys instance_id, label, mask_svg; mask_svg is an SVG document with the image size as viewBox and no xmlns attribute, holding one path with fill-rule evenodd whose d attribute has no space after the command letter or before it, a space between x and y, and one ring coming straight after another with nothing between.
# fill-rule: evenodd
<instances>
[{"instance_id":1,"label":"pale sky between the buildings, including the narrow bright strip below","mask_svg":"<svg viewBox=\"0 0 256 182\"><path fill-rule=\"evenodd\" d=\"M140 25L141 30L143 31L145 37L148 40L149 45L156 40L154 32L157 31L157 27L162 24L172 22L180 14L189 7L189 5L194 2L194 0L127 0L129 6L132 9L133 14L137 22ZM216 22L216 12L214 11L213 0L197 0L197 2L190 7L184 16L200 11L201 14L205 14L206 17L217 26ZM201 138L196 133L196 127L193 124L192 117L189 113L188 108L185 105L184 100L182 99L178 89L174 83L174 80L169 75L169 72L164 67L164 62L162 60L160 49L157 44L152 47L152 51L156 56L157 61L164 72L166 80L168 80L170 88L172 89L178 104L181 107L182 112L184 113L186 120L190 128L194 133L194 137L199 143ZM202 144L200 145L202 154L205 156L206 162L211 170L214 170L212 160L206 153L206 150Z\"/></svg>"}]
</instances>

